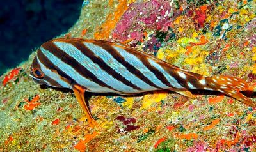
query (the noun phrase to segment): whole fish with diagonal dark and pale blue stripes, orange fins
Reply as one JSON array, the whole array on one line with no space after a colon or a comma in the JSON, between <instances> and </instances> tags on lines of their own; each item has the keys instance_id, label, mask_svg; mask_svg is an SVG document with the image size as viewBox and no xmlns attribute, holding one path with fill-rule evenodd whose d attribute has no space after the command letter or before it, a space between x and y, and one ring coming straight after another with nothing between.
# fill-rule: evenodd
<instances>
[{"instance_id":1,"label":"whole fish with diagonal dark and pale blue stripes, orange fins","mask_svg":"<svg viewBox=\"0 0 256 152\"><path fill-rule=\"evenodd\" d=\"M240 91L249 85L238 77L206 77L189 72L140 50L105 40L56 38L43 43L30 67L37 84L74 91L90 127L100 128L93 119L85 93L134 95L148 91L170 90L196 98L189 90L219 91L255 107Z\"/></svg>"}]
</instances>

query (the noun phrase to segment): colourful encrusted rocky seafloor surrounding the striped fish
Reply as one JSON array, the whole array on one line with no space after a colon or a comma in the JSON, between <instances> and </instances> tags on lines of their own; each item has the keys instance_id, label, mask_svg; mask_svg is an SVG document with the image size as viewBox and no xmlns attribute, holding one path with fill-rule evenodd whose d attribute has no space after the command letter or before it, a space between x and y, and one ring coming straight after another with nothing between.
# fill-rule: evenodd
<instances>
[{"instance_id":1,"label":"colourful encrusted rocky seafloor surrounding the striped fish","mask_svg":"<svg viewBox=\"0 0 256 152\"><path fill-rule=\"evenodd\" d=\"M240 77L255 91L255 3L84 1L58 37L125 43L191 72ZM90 128L72 91L29 77L35 55L0 77L0 151L256 151L255 107L214 91L95 93L90 109L104 130Z\"/></svg>"}]
</instances>

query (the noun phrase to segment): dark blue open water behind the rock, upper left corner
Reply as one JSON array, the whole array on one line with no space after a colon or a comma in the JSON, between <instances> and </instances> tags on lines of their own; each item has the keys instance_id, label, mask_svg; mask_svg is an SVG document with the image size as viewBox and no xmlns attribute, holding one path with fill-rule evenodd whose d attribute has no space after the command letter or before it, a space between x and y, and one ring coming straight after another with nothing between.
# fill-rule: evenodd
<instances>
[{"instance_id":1,"label":"dark blue open water behind the rock, upper left corner","mask_svg":"<svg viewBox=\"0 0 256 152\"><path fill-rule=\"evenodd\" d=\"M0 75L26 61L32 49L67 30L83 0L10 0L0 5Z\"/></svg>"}]
</instances>

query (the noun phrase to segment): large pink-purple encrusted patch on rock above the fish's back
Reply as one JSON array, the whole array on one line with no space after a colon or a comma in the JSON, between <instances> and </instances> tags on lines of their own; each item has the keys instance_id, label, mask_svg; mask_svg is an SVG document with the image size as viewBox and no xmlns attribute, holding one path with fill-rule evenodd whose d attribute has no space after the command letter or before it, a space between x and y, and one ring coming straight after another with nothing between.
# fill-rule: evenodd
<instances>
[{"instance_id":1,"label":"large pink-purple encrusted patch on rock above the fish's back","mask_svg":"<svg viewBox=\"0 0 256 152\"><path fill-rule=\"evenodd\" d=\"M113 38L120 41L132 38L138 41L143 38L146 29L168 31L172 22L170 10L172 8L168 1L132 3L116 25Z\"/></svg>"}]
</instances>

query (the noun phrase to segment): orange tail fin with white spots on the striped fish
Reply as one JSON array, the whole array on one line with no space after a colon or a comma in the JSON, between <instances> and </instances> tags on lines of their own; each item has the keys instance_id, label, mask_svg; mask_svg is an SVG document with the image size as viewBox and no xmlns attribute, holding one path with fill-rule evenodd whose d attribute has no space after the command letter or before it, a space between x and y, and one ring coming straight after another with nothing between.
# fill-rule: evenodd
<instances>
[{"instance_id":1,"label":"orange tail fin with white spots on the striped fish","mask_svg":"<svg viewBox=\"0 0 256 152\"><path fill-rule=\"evenodd\" d=\"M256 103L244 96L240 91L247 91L249 86L243 79L230 76L213 76L205 77L209 88L225 93L226 95L236 98L240 102L256 107ZM205 88L206 89L206 88Z\"/></svg>"}]
</instances>

